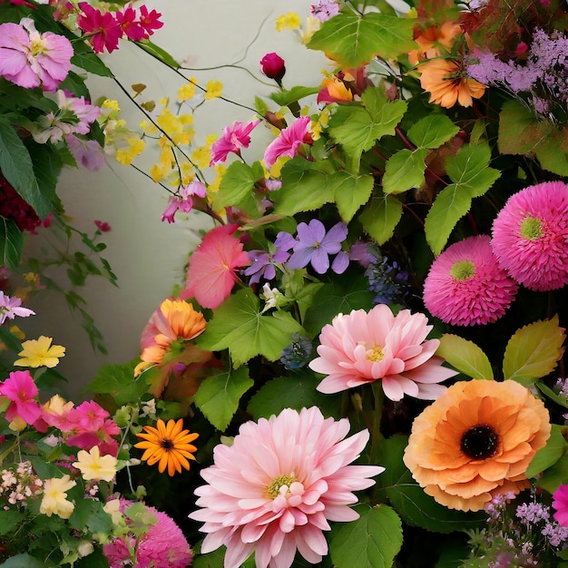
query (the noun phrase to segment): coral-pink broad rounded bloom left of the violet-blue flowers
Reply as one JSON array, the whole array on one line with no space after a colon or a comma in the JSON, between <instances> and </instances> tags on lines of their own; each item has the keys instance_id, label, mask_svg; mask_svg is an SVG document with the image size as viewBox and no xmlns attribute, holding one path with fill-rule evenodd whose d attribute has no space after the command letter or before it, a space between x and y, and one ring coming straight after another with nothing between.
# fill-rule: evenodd
<instances>
[{"instance_id":1,"label":"coral-pink broad rounded bloom left of the violet-blue flowers","mask_svg":"<svg viewBox=\"0 0 568 568\"><path fill-rule=\"evenodd\" d=\"M249 255L232 234L237 225L210 230L193 252L181 299L195 298L203 308L215 309L230 296L236 271L250 265Z\"/></svg>"}]
</instances>

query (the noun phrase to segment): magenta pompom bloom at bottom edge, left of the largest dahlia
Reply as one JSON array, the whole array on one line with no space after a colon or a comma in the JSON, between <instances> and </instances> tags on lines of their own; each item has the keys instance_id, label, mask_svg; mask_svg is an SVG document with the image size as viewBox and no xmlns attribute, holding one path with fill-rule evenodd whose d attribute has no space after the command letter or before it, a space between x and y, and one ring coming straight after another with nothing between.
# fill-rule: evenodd
<instances>
[{"instance_id":1,"label":"magenta pompom bloom at bottom edge, left of the largest dahlia","mask_svg":"<svg viewBox=\"0 0 568 568\"><path fill-rule=\"evenodd\" d=\"M132 504L132 501L121 499L122 513L129 504ZM193 553L180 527L162 511L150 506L147 506L146 510L154 514L158 522L152 524L138 544L134 536L126 534L104 545L103 553L110 568L130 565L127 562L131 558L130 551L134 548L136 550L135 565L138 568L187 568L190 566Z\"/></svg>"}]
</instances>

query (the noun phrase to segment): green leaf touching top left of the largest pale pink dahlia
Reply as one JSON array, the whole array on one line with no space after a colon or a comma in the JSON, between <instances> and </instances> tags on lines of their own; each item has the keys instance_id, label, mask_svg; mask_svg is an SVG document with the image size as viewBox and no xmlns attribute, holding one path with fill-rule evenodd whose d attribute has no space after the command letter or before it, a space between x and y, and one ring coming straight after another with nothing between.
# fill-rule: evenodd
<instances>
[{"instance_id":1,"label":"green leaf touching top left of the largest pale pink dahlia","mask_svg":"<svg viewBox=\"0 0 568 568\"><path fill-rule=\"evenodd\" d=\"M204 379L193 400L211 424L223 432L239 407L240 397L253 384L248 368L240 367Z\"/></svg>"}]
</instances>

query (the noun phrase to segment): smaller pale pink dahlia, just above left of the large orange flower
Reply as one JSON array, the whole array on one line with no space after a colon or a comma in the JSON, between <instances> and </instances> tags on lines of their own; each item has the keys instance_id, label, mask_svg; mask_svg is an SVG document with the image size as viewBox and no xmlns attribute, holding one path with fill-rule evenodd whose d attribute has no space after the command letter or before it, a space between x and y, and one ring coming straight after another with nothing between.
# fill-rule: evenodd
<instances>
[{"instance_id":1,"label":"smaller pale pink dahlia, just above left of the large orange flower","mask_svg":"<svg viewBox=\"0 0 568 568\"><path fill-rule=\"evenodd\" d=\"M403 309L394 316L386 304L368 313L354 309L338 314L321 330L318 355L309 367L328 375L318 385L322 393L338 393L381 380L385 395L401 400L405 395L433 400L446 387L438 385L457 372L442 367L434 357L440 341L427 339L432 329L424 314Z\"/></svg>"}]
</instances>

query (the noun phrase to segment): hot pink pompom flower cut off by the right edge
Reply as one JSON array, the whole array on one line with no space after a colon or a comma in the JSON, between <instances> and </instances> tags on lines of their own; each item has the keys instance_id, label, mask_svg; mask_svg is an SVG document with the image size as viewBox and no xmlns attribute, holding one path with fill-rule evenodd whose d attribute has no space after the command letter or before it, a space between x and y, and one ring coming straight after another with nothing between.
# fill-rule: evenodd
<instances>
[{"instance_id":1,"label":"hot pink pompom flower cut off by the right edge","mask_svg":"<svg viewBox=\"0 0 568 568\"><path fill-rule=\"evenodd\" d=\"M545 181L515 193L493 223L499 265L528 289L568 284L568 185Z\"/></svg>"}]
</instances>

